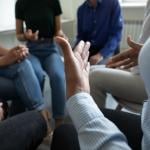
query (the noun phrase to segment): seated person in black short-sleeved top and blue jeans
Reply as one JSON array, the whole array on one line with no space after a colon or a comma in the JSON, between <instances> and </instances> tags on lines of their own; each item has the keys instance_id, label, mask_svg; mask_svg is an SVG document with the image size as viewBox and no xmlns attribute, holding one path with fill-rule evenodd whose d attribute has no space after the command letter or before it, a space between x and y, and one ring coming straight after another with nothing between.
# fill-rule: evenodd
<instances>
[{"instance_id":1,"label":"seated person in black short-sleeved top and blue jeans","mask_svg":"<svg viewBox=\"0 0 150 150\"><path fill-rule=\"evenodd\" d=\"M28 59L39 81L43 80L43 71L49 77L55 127L65 117L64 65L53 40L55 36L66 38L61 29L61 13L59 0L17 0L15 5L17 39L26 42Z\"/></svg>"}]
</instances>

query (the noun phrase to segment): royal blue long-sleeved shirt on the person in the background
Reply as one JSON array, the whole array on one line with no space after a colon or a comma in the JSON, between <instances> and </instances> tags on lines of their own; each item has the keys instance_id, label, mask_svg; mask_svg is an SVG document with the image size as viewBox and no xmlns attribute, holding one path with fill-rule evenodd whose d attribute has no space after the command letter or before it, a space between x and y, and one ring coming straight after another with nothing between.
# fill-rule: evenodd
<instances>
[{"instance_id":1,"label":"royal blue long-sleeved shirt on the person in the background","mask_svg":"<svg viewBox=\"0 0 150 150\"><path fill-rule=\"evenodd\" d=\"M113 54L118 48L123 28L123 20L118 0L98 0L96 8L85 1L77 12L80 40L90 41L102 56Z\"/></svg>"}]
</instances>

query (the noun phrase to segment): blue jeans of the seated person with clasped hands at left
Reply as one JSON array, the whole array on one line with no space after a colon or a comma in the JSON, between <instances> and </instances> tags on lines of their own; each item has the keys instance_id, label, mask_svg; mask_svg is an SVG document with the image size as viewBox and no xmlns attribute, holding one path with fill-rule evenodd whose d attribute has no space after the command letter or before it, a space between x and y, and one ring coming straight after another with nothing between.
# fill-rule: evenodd
<instances>
[{"instance_id":1,"label":"blue jeans of the seated person with clasped hands at left","mask_svg":"<svg viewBox=\"0 0 150 150\"><path fill-rule=\"evenodd\" d=\"M0 76L13 80L18 96L29 110L45 107L39 80L29 60L1 68Z\"/></svg>"}]
</instances>

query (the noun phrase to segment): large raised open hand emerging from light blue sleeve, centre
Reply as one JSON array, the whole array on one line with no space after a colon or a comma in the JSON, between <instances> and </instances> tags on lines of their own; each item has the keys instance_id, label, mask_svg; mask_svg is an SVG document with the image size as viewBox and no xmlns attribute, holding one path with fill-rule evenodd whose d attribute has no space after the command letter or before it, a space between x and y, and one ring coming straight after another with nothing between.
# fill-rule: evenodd
<instances>
[{"instance_id":1,"label":"large raised open hand emerging from light blue sleeve, centre","mask_svg":"<svg viewBox=\"0 0 150 150\"><path fill-rule=\"evenodd\" d=\"M66 73L67 97L78 92L90 92L89 87L89 48L90 43L83 41L76 46L74 53L67 40L61 37L55 38L61 46L64 54L64 64Z\"/></svg>"}]
</instances>

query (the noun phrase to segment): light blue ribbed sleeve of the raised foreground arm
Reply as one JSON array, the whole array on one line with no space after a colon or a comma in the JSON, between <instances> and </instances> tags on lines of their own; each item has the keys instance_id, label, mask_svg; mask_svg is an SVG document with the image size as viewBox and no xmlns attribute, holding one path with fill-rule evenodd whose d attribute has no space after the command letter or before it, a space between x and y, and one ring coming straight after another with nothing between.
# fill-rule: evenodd
<instances>
[{"instance_id":1,"label":"light blue ribbed sleeve of the raised foreground arm","mask_svg":"<svg viewBox=\"0 0 150 150\"><path fill-rule=\"evenodd\" d=\"M121 131L97 107L88 93L78 93L67 102L77 129L81 150L129 150Z\"/></svg>"}]
</instances>

